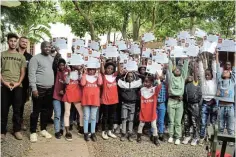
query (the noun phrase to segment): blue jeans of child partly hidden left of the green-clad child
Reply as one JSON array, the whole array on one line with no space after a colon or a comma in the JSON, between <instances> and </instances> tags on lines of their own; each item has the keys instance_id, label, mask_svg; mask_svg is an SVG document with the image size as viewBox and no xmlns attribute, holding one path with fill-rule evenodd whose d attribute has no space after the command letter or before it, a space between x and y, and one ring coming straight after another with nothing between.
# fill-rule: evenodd
<instances>
[{"instance_id":1,"label":"blue jeans of child partly hidden left of the green-clad child","mask_svg":"<svg viewBox=\"0 0 236 157\"><path fill-rule=\"evenodd\" d=\"M157 123L158 123L158 132L160 134L164 133L164 128L165 128L165 114L166 114L166 104L165 103L160 103L158 104L157 107Z\"/></svg>"}]
</instances>

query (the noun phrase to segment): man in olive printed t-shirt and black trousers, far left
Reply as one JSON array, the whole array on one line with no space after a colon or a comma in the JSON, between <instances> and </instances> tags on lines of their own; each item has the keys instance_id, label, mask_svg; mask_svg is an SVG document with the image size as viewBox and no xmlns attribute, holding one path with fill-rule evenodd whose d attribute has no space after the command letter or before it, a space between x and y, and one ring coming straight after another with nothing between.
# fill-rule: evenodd
<instances>
[{"instance_id":1,"label":"man in olive printed t-shirt and black trousers, far left","mask_svg":"<svg viewBox=\"0 0 236 157\"><path fill-rule=\"evenodd\" d=\"M5 140L9 108L13 107L13 131L22 140L20 109L22 105L22 81L25 76L25 57L16 51L18 36L7 36L9 49L1 53L1 139Z\"/></svg>"}]
</instances>

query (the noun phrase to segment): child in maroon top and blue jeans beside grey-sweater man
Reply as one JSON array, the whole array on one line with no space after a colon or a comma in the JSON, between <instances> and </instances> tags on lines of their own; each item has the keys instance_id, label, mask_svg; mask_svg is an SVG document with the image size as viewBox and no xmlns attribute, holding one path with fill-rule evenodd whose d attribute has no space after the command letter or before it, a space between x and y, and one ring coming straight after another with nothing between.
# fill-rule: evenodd
<instances>
[{"instance_id":1,"label":"child in maroon top and blue jeans beside grey-sweater man","mask_svg":"<svg viewBox=\"0 0 236 157\"><path fill-rule=\"evenodd\" d=\"M55 129L55 137L60 139L63 135L63 127L64 127L64 103L62 102L62 98L64 95L64 77L67 75L68 71L65 68L66 61L64 59L60 59L58 61L58 70L55 79L55 86L53 92L53 108L54 108L54 129Z\"/></svg>"}]
</instances>

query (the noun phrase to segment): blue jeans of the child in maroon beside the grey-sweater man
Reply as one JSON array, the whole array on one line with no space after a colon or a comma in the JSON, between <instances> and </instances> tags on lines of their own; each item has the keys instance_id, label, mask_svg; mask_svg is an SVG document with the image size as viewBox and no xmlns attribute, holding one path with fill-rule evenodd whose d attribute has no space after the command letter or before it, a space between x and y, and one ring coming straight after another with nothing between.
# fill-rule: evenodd
<instances>
[{"instance_id":1,"label":"blue jeans of the child in maroon beside the grey-sweater man","mask_svg":"<svg viewBox=\"0 0 236 157\"><path fill-rule=\"evenodd\" d=\"M54 108L54 129L55 133L64 127L64 103L59 100L53 100Z\"/></svg>"}]
</instances>

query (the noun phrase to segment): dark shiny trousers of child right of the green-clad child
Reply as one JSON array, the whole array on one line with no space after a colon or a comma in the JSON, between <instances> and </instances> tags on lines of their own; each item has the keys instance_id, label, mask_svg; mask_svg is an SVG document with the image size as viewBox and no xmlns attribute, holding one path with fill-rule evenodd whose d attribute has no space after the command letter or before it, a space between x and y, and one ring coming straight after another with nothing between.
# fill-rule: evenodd
<instances>
[{"instance_id":1,"label":"dark shiny trousers of child right of the green-clad child","mask_svg":"<svg viewBox=\"0 0 236 157\"><path fill-rule=\"evenodd\" d=\"M184 110L184 134L185 137L190 137L190 127L193 126L193 138L198 137L199 132L199 104L186 104Z\"/></svg>"}]
</instances>

